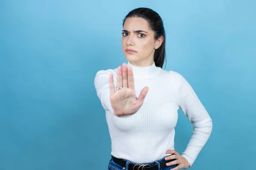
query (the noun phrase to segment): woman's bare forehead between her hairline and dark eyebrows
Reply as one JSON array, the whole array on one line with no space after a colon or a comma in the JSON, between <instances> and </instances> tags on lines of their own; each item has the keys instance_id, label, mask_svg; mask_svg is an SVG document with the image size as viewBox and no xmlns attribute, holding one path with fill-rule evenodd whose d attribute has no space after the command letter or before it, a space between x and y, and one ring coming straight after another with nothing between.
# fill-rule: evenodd
<instances>
[{"instance_id":1,"label":"woman's bare forehead between her hairline and dark eyebrows","mask_svg":"<svg viewBox=\"0 0 256 170\"><path fill-rule=\"evenodd\" d=\"M140 17L126 18L123 28L128 31L143 30L149 31L148 22Z\"/></svg>"}]
</instances>

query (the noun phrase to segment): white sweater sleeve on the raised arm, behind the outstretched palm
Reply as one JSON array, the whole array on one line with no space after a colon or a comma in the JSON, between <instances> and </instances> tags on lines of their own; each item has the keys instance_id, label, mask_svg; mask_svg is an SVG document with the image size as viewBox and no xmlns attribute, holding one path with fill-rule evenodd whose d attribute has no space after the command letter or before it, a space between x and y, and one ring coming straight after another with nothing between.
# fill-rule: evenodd
<instances>
[{"instance_id":1,"label":"white sweater sleeve on the raised arm, behind the outstretched palm","mask_svg":"<svg viewBox=\"0 0 256 170\"><path fill-rule=\"evenodd\" d=\"M97 96L101 101L102 107L105 109L105 111L110 111L111 113L114 113L113 108L111 106L111 102L110 102L110 90L109 90L110 74L111 73L108 72L108 70L98 71L94 79L94 86L96 88Z\"/></svg>"}]
</instances>

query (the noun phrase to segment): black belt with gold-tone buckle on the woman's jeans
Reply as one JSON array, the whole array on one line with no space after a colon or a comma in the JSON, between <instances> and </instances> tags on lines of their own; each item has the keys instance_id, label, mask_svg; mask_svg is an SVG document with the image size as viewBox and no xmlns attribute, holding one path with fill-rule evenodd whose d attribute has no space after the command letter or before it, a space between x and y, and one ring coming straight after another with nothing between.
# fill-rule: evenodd
<instances>
[{"instance_id":1,"label":"black belt with gold-tone buckle on the woman's jeans","mask_svg":"<svg viewBox=\"0 0 256 170\"><path fill-rule=\"evenodd\" d=\"M116 158L114 157L113 155L112 156L112 160L116 163L116 164L119 164L121 167L126 167L126 161L122 160L122 159L119 159L119 158ZM166 166L166 163L168 162L171 162L171 161L174 161L176 159L171 159L171 160L168 160L166 161L165 159L163 159L163 161L160 161L160 169L163 169ZM132 164L132 163L129 163L128 165L128 170L138 170L138 168L140 167L140 165L136 165L135 167L135 164ZM140 167L140 170L142 170L142 167ZM155 164L155 165L146 165L143 167L143 170L158 170L158 164Z\"/></svg>"}]
</instances>

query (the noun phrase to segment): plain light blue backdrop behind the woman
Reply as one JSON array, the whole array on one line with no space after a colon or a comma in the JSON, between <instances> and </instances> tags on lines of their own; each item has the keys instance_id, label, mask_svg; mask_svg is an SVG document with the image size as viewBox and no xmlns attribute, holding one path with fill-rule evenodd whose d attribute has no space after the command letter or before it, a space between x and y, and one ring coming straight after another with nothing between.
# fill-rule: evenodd
<instances>
[{"instance_id":1,"label":"plain light blue backdrop behind the woman","mask_svg":"<svg viewBox=\"0 0 256 170\"><path fill-rule=\"evenodd\" d=\"M0 170L107 169L111 141L94 77L127 62L122 19L137 7L163 18L163 68L182 74L212 117L189 169L255 170L253 0L1 0ZM182 153L192 124L179 115Z\"/></svg>"}]
</instances>

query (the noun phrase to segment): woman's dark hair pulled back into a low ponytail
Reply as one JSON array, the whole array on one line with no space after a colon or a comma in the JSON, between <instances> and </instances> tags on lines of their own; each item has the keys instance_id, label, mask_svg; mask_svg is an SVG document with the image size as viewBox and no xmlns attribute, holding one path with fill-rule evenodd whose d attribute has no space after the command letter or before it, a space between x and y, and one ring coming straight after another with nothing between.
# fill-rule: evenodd
<instances>
[{"instance_id":1,"label":"woman's dark hair pulled back into a low ponytail","mask_svg":"<svg viewBox=\"0 0 256 170\"><path fill-rule=\"evenodd\" d=\"M150 8L136 8L130 11L125 18L123 19L124 26L125 20L129 17L141 17L148 21L149 28L154 32L154 39L157 40L160 36L163 36L162 45L157 48L154 52L154 62L157 67L163 68L164 59L166 59L165 51L165 29L163 28L163 20L157 14L156 11L153 11Z\"/></svg>"}]
</instances>

